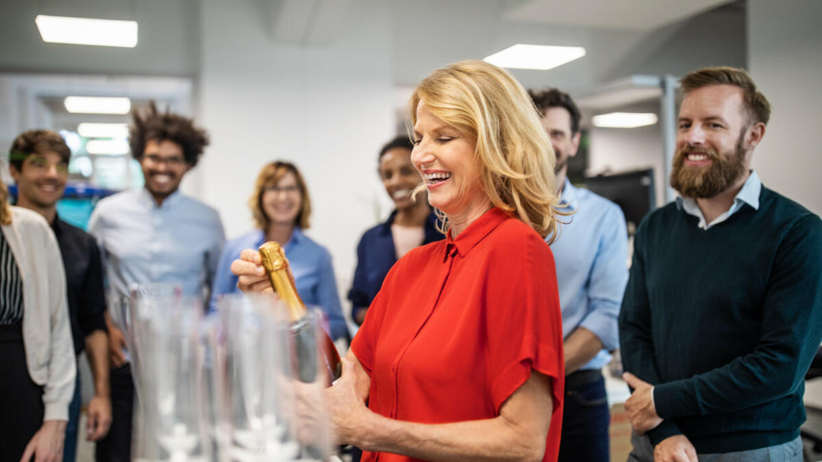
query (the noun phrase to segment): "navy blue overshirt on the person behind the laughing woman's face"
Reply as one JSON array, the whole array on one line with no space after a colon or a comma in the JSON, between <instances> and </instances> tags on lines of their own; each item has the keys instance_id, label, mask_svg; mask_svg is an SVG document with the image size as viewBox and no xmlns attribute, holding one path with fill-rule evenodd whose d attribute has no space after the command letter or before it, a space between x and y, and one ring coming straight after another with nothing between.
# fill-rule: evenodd
<instances>
[{"instance_id":1,"label":"navy blue overshirt on the person behind the laughing woman's face","mask_svg":"<svg viewBox=\"0 0 822 462\"><path fill-rule=\"evenodd\" d=\"M371 305L376 293L380 291L382 280L386 279L388 270L397 262L397 251L391 235L391 224L394 224L396 215L397 211L394 210L385 223L368 229L363 238L360 238L357 246L357 269L354 270L354 280L349 290L352 317L359 308ZM436 215L432 212L425 222L425 238L422 245L442 238L445 238L445 235L437 231Z\"/></svg>"}]
</instances>

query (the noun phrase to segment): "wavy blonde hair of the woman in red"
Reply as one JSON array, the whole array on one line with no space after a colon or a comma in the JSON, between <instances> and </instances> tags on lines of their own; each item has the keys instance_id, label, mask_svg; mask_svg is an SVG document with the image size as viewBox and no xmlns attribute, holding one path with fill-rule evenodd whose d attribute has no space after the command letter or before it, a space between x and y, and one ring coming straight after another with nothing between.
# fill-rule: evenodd
<instances>
[{"instance_id":1,"label":"wavy blonde hair of the woman in red","mask_svg":"<svg viewBox=\"0 0 822 462\"><path fill-rule=\"evenodd\" d=\"M459 61L419 83L409 100L411 127L417 107L476 140L480 183L493 206L528 224L548 243L559 235L556 156L539 114L520 82L483 61ZM423 186L424 187L424 186ZM441 216L443 230L449 228Z\"/></svg>"}]
</instances>

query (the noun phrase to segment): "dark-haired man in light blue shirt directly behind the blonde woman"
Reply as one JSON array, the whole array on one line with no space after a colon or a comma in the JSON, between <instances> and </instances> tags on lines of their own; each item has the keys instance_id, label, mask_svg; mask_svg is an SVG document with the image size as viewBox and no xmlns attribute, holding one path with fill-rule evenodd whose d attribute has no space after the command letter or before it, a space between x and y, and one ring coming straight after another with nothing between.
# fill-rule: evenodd
<instances>
[{"instance_id":1,"label":"dark-haired man in light blue shirt directly behind the blonde woman","mask_svg":"<svg viewBox=\"0 0 822 462\"><path fill-rule=\"evenodd\" d=\"M531 92L556 155L556 185L567 211L551 250L562 309L566 401L560 461L607 461L608 414L601 372L617 349L617 316L628 280L625 215L612 201L567 177L568 159L580 146L580 110L566 93Z\"/></svg>"}]
</instances>

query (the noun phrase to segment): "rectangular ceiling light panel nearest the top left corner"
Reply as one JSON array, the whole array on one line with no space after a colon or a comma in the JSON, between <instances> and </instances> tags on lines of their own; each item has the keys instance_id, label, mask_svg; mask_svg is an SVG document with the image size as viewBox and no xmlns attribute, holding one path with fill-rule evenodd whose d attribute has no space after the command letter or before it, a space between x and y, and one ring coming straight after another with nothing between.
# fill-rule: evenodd
<instances>
[{"instance_id":1,"label":"rectangular ceiling light panel nearest the top left corner","mask_svg":"<svg viewBox=\"0 0 822 462\"><path fill-rule=\"evenodd\" d=\"M136 21L37 15L35 24L44 42L132 49L137 45Z\"/></svg>"}]
</instances>

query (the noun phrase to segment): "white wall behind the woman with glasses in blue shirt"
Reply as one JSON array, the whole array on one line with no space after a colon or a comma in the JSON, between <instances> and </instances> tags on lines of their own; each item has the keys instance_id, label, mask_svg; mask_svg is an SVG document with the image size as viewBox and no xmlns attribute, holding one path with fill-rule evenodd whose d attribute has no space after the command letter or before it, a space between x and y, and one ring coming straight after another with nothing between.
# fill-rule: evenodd
<instances>
[{"instance_id":1,"label":"white wall behind the woman with glasses in blue shirt","mask_svg":"<svg viewBox=\"0 0 822 462\"><path fill-rule=\"evenodd\" d=\"M385 195L376 155L394 135L388 7L352 2L346 33L328 46L273 43L256 0L204 0L201 31L198 122L211 146L192 172L199 196L236 237L252 226L246 204L261 166L293 161L312 195L308 233L329 248L344 293Z\"/></svg>"}]
</instances>

